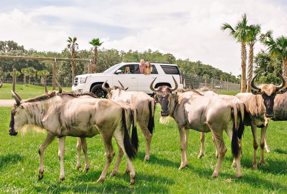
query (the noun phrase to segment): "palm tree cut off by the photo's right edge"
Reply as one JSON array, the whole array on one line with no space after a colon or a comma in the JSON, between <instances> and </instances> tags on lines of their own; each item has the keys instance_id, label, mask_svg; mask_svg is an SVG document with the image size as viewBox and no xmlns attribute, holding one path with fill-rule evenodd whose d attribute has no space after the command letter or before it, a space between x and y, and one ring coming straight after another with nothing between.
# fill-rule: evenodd
<instances>
[{"instance_id":1,"label":"palm tree cut off by the photo's right edge","mask_svg":"<svg viewBox=\"0 0 287 194\"><path fill-rule=\"evenodd\" d=\"M272 56L282 58L282 74L283 78L287 80L287 37L280 36L274 40L270 36L268 40L265 39L263 41L263 44L268 46L268 50Z\"/></svg>"}]
</instances>

